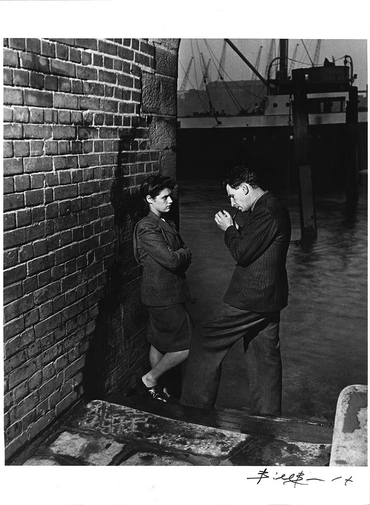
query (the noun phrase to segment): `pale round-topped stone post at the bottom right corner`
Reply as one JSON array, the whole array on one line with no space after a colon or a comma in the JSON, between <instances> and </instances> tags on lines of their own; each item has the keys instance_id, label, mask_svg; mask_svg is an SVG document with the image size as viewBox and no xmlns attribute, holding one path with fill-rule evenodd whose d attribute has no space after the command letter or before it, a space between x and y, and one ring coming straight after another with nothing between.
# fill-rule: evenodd
<instances>
[{"instance_id":1,"label":"pale round-topped stone post at the bottom right corner","mask_svg":"<svg viewBox=\"0 0 370 505\"><path fill-rule=\"evenodd\" d=\"M367 466L367 386L347 386L339 395L330 466Z\"/></svg>"}]
</instances>

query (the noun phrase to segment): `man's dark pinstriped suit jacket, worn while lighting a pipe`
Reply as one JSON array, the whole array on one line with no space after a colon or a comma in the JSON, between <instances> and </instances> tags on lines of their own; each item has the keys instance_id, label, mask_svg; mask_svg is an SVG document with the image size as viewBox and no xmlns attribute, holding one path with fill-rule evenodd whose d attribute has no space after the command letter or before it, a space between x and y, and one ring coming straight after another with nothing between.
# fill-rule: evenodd
<instances>
[{"instance_id":1,"label":"man's dark pinstriped suit jacket, worn while lighting a pipe","mask_svg":"<svg viewBox=\"0 0 370 505\"><path fill-rule=\"evenodd\" d=\"M286 307L285 263L290 235L288 210L270 192L256 201L242 228L226 229L225 243L237 263L224 302L253 312L275 312Z\"/></svg>"}]
</instances>

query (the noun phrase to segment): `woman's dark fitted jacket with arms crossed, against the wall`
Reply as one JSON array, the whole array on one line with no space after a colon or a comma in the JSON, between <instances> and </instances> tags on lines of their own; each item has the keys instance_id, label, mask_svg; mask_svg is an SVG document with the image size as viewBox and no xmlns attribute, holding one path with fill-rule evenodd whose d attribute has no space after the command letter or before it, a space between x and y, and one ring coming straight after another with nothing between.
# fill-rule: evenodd
<instances>
[{"instance_id":1,"label":"woman's dark fitted jacket with arms crossed, against the wall","mask_svg":"<svg viewBox=\"0 0 370 505\"><path fill-rule=\"evenodd\" d=\"M134 255L143 266L144 305L164 307L191 299L185 272L192 255L172 221L163 221L149 212L135 227Z\"/></svg>"}]
</instances>

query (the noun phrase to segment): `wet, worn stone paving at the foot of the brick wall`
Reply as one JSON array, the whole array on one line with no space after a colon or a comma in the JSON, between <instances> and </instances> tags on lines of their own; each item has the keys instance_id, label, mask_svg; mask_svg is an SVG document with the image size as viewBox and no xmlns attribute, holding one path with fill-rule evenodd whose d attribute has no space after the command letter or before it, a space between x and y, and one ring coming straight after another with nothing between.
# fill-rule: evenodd
<instances>
[{"instance_id":1,"label":"wet, worn stone paving at the foot of the brick wall","mask_svg":"<svg viewBox=\"0 0 370 505\"><path fill-rule=\"evenodd\" d=\"M93 400L19 465L326 466L330 444L289 442L192 424Z\"/></svg>"}]
</instances>

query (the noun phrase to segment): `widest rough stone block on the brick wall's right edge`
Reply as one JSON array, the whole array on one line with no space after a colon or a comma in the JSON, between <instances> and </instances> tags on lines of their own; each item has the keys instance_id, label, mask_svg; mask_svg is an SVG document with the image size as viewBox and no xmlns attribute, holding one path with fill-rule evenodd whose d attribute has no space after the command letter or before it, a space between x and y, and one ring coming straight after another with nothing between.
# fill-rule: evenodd
<instances>
[{"instance_id":1,"label":"widest rough stone block on the brick wall's right edge","mask_svg":"<svg viewBox=\"0 0 370 505\"><path fill-rule=\"evenodd\" d=\"M176 79L143 72L142 113L176 116Z\"/></svg>"}]
</instances>

